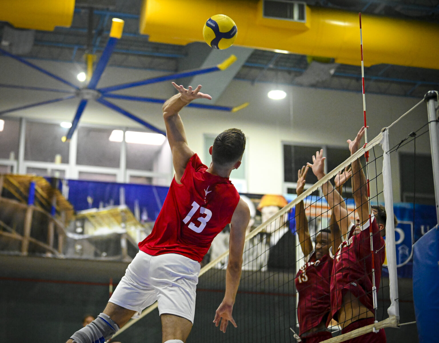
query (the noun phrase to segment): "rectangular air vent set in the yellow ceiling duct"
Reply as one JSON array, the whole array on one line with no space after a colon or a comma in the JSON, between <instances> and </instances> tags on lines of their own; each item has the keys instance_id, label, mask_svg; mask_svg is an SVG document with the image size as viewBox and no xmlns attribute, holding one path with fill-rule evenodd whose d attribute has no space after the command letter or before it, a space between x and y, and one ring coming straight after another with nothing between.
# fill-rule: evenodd
<instances>
[{"instance_id":1,"label":"rectangular air vent set in the yellow ceiling duct","mask_svg":"<svg viewBox=\"0 0 439 343\"><path fill-rule=\"evenodd\" d=\"M306 21L306 3L291 0L264 0L264 18Z\"/></svg>"}]
</instances>

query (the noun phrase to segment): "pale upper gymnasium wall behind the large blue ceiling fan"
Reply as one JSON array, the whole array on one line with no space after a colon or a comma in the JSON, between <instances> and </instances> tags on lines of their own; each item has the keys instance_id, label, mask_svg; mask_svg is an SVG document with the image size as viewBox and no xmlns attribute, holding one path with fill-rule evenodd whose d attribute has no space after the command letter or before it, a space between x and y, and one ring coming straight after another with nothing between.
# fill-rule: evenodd
<instances>
[{"instance_id":1,"label":"pale upper gymnasium wall behind the large blue ceiling fan","mask_svg":"<svg viewBox=\"0 0 439 343\"><path fill-rule=\"evenodd\" d=\"M82 66L72 63L32 60L33 63L52 70L61 77L72 80L79 85L76 74ZM58 81L19 64L7 57L0 57L2 73L0 83L31 85L39 87L69 89ZM128 68L108 67L99 86L135 81L167 72L145 71ZM215 74L212 74L212 78ZM287 98L275 101L266 96L273 88L287 92ZM203 91L208 93L209 89ZM0 110L27 103L58 98L61 93L23 91L2 88ZM174 89L168 82L131 88L122 94L143 95L168 98ZM371 127L369 139L373 138L382 127L396 120L420 99L388 95L367 94L367 120ZM138 115L149 123L164 128L161 106L152 103L135 103L112 100L126 110ZM332 91L318 88L272 85L234 80L223 92L218 105L237 106L244 102L250 105L236 113L213 110L184 109L182 118L190 147L203 156L203 134L218 134L230 127L241 128L247 138L248 193L267 194L282 193L283 152L282 142L327 144L346 147L346 139L354 138L363 125L363 105L361 93ZM208 102L205 100L204 102ZM8 114L10 117L40 118L54 121L71 121L76 111L78 99L70 99L48 106L35 107ZM82 117L84 123L117 125L120 127L140 127L138 124L111 112L100 104L89 102ZM390 146L405 138L427 122L426 106L421 105L403 121L396 124L390 132ZM410 146L400 151L411 152ZM428 134L417 139L418 154L429 154ZM396 156L396 154L394 154ZM205 161L209 163L209 161ZM395 201L400 199L399 163L397 157L392 165L392 181Z\"/></svg>"}]
</instances>

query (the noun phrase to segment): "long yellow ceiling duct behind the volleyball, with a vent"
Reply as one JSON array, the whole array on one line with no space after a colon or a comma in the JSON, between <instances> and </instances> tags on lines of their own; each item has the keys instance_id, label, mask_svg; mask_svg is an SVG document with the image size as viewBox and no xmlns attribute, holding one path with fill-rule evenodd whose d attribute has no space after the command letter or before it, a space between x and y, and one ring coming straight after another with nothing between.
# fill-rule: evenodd
<instances>
[{"instance_id":1,"label":"long yellow ceiling duct behind the volleyball, with a vent","mask_svg":"<svg viewBox=\"0 0 439 343\"><path fill-rule=\"evenodd\" d=\"M268 3L268 2L267 2ZM235 45L334 58L360 65L358 13L309 7L302 21L263 16L264 0L144 0L140 33L152 42L202 41L205 21L227 14L238 28ZM439 25L362 15L364 65L397 64L439 69Z\"/></svg>"}]
</instances>

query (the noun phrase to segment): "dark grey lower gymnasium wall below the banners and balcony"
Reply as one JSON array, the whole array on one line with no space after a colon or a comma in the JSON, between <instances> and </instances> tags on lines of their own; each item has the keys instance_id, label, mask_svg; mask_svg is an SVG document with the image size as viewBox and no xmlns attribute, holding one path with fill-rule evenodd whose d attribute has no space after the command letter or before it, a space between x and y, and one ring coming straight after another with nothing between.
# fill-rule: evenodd
<instances>
[{"instance_id":1,"label":"dark grey lower gymnasium wall below the banners and balcony","mask_svg":"<svg viewBox=\"0 0 439 343\"><path fill-rule=\"evenodd\" d=\"M98 315L109 298L108 282L119 282L125 272L125 262L62 260L23 256L0 256L0 321L2 333L0 342L42 341L64 343L68 336L81 328L84 315ZM262 276L263 277L263 276ZM291 276L294 277L294 276ZM383 278L384 283L388 279ZM412 298L412 280L399 279L400 322L415 320ZM291 283L292 284L292 283ZM294 325L294 290L291 296L285 290L279 294L278 285L269 285L261 294L252 294L243 287L237 294L234 319L238 328L232 325L226 334L212 323L215 310L223 298L223 285L203 283L200 279L197 291L197 306L194 327L187 343L224 342L227 337L238 335L243 342L288 341L288 325ZM381 293L379 295L380 300ZM258 297L260 308L252 308L254 297ZM388 299L388 295L384 296ZM388 304L386 302L385 304ZM288 316L267 318L265 308L293 310ZM248 312L259 313L255 320L263 328L259 336L248 332ZM26 330L22 323L25 324ZM202 333L204 332L204 333ZM405 325L400 329L386 329L387 342L417 342L416 325ZM244 339L250 338L251 339ZM291 336L292 337L292 336ZM114 341L122 343L157 343L161 341L161 325L158 310L127 329ZM291 338L291 342L294 339Z\"/></svg>"}]
</instances>

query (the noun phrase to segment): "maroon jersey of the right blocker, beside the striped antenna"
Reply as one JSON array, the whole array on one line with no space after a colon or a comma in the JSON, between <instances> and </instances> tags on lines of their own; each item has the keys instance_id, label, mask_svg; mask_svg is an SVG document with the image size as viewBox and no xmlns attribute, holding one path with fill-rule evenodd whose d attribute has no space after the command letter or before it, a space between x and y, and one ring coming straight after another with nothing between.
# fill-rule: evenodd
<instances>
[{"instance_id":1,"label":"maroon jersey of the right blocker, beside the striped antenna","mask_svg":"<svg viewBox=\"0 0 439 343\"><path fill-rule=\"evenodd\" d=\"M375 286L381 281L381 267L385 258L384 239L379 233L377 220L372 218L372 241L374 244ZM369 221L361 232L355 233L355 226L349 232L349 238L338 248L335 254L331 279L332 317L337 320L337 312L342 307L343 296L349 291L364 306L374 311L372 293L372 255ZM330 318L328 318L328 321Z\"/></svg>"}]
</instances>

